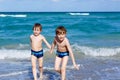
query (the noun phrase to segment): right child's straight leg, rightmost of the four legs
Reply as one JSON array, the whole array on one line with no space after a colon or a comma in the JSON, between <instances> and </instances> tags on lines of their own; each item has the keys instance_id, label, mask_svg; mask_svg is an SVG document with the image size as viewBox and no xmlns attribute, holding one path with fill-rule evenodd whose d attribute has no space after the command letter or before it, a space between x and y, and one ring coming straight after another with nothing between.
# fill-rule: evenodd
<instances>
[{"instance_id":1,"label":"right child's straight leg, rightmost of the four legs","mask_svg":"<svg viewBox=\"0 0 120 80\"><path fill-rule=\"evenodd\" d=\"M66 78L66 65L68 62L68 56L63 57L62 59L62 67L61 67L61 80L65 80Z\"/></svg>"}]
</instances>

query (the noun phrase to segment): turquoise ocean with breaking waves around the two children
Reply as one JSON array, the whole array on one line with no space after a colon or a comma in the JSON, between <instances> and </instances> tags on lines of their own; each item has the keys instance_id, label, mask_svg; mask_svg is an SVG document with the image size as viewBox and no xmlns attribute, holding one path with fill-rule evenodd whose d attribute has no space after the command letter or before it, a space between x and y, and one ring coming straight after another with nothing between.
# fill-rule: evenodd
<instances>
[{"instance_id":1,"label":"turquoise ocean with breaking waves around the two children","mask_svg":"<svg viewBox=\"0 0 120 80\"><path fill-rule=\"evenodd\" d=\"M33 80L30 35L35 23L51 44L65 26L76 63L69 59L67 80L120 80L120 12L0 12L0 80ZM60 80L54 54L43 43L44 80ZM39 73L39 71L37 70Z\"/></svg>"}]
</instances>

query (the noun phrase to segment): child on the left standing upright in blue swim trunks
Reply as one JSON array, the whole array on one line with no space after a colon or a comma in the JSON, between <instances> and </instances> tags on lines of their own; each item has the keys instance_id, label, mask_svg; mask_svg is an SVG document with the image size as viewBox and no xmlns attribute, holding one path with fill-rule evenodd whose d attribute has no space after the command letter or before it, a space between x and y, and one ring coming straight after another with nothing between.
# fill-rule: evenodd
<instances>
[{"instance_id":1,"label":"child on the left standing upright in blue swim trunks","mask_svg":"<svg viewBox=\"0 0 120 80\"><path fill-rule=\"evenodd\" d=\"M40 70L40 78L43 76L43 49L42 42L44 42L48 48L51 48L50 44L46 41L45 37L41 35L42 26L39 23L34 24L33 34L30 35L30 43L31 43L31 63L32 63L32 72L34 80L37 80L37 72L36 72L36 60L38 59L39 70Z\"/></svg>"}]
</instances>

